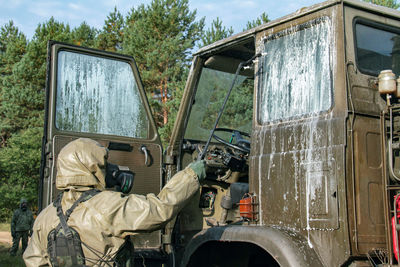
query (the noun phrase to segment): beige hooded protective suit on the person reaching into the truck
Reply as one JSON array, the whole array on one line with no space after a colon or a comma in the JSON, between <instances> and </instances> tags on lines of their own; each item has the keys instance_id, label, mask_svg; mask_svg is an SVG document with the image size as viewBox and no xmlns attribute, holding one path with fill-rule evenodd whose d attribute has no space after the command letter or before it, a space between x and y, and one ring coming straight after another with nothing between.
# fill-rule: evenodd
<instances>
[{"instance_id":1,"label":"beige hooded protective suit on the person reaching into the truck","mask_svg":"<svg viewBox=\"0 0 400 267\"><path fill-rule=\"evenodd\" d=\"M57 160L56 187L66 190L61 202L64 213L83 191L93 187L104 189L107 154L106 148L83 138L62 149ZM198 189L197 175L186 168L177 173L158 196L100 192L75 208L68 225L77 230L82 242L110 260L124 243L125 236L162 228ZM56 208L51 204L35 221L32 238L23 255L26 266L51 266L47 236L58 224ZM85 246L82 248L85 258L98 259ZM98 264L86 261L88 266Z\"/></svg>"}]
</instances>

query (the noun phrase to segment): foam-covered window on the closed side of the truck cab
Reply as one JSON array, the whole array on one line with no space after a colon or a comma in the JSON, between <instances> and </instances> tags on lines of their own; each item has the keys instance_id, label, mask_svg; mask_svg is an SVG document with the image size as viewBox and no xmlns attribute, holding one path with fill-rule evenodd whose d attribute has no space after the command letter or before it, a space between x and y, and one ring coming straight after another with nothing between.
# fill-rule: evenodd
<instances>
[{"instance_id":1,"label":"foam-covered window on the closed side of the truck cab","mask_svg":"<svg viewBox=\"0 0 400 267\"><path fill-rule=\"evenodd\" d=\"M332 106L331 22L321 18L266 38L259 90L260 123Z\"/></svg>"}]
</instances>

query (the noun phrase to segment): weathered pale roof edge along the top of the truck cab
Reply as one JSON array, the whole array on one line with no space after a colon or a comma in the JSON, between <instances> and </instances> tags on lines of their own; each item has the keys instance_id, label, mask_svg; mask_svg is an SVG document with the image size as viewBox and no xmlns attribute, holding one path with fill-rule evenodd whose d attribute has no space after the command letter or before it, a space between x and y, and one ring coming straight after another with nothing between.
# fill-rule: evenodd
<instances>
[{"instance_id":1,"label":"weathered pale roof edge along the top of the truck cab","mask_svg":"<svg viewBox=\"0 0 400 267\"><path fill-rule=\"evenodd\" d=\"M230 37L227 37L225 39L219 40L217 42L214 42L210 45L204 46L200 48L194 55L202 55L202 54L208 54L210 51L218 50L221 47L228 46L231 43L236 43L240 40L244 40L249 38L250 36L254 35L257 32L264 31L268 28L272 28L275 25L279 25L282 23L285 23L287 21L291 21L293 19L296 19L298 17L302 17L304 15L307 15L309 13L316 12L318 10L337 5L337 4L343 4L347 6L353 6L359 9L364 9L366 11L369 11L371 13L377 13L383 16L388 16L388 17L393 17L395 19L400 19L400 11L395 10L393 8L388 8L388 7L383 7L375 4L370 4L367 2L363 2L360 0L328 0L319 4L315 4L309 7L303 7L298 9L297 11L286 15L284 17L278 18L276 20L270 21L268 23L265 23L263 25L257 26L255 28L246 30L244 32L232 35Z\"/></svg>"}]
</instances>

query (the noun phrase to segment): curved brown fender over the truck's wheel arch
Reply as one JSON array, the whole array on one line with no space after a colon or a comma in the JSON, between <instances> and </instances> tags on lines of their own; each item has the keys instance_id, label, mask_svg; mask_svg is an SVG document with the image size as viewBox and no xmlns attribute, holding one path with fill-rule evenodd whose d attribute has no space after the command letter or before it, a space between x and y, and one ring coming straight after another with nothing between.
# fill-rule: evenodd
<instances>
[{"instance_id":1,"label":"curved brown fender over the truck's wheel arch","mask_svg":"<svg viewBox=\"0 0 400 267\"><path fill-rule=\"evenodd\" d=\"M181 266L209 241L252 243L263 248L280 266L323 266L307 240L293 230L266 226L213 227L197 233L189 242Z\"/></svg>"}]
</instances>

